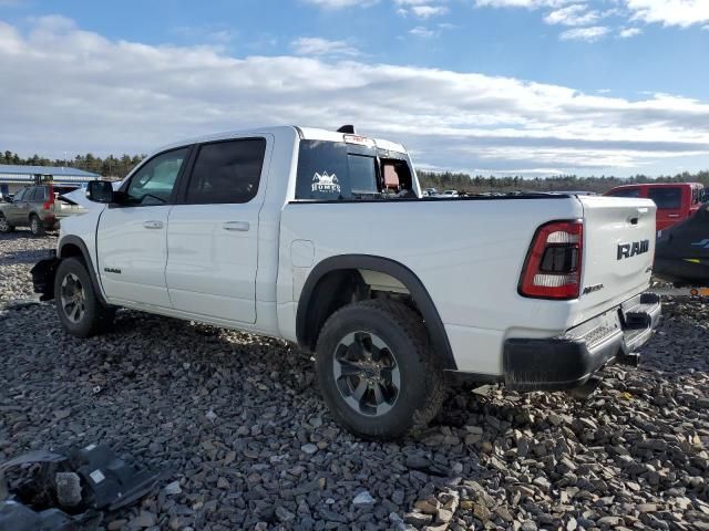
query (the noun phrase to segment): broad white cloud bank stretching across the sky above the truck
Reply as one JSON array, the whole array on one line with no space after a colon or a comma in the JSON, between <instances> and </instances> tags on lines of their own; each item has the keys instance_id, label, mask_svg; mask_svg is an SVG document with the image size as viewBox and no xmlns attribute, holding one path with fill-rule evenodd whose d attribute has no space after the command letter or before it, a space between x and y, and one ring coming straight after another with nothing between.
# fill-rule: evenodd
<instances>
[{"instance_id":1,"label":"broad white cloud bank stretching across the sky above the truck","mask_svg":"<svg viewBox=\"0 0 709 531\"><path fill-rule=\"evenodd\" d=\"M13 73L0 85L0 123L11 124L0 147L23 155L145 153L218 131L347 122L403 142L432 168L629 174L709 163L709 102L667 94L629 101L351 59L235 58L111 40L61 17L27 32L0 22L0 70Z\"/></svg>"}]
</instances>

